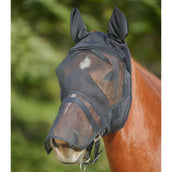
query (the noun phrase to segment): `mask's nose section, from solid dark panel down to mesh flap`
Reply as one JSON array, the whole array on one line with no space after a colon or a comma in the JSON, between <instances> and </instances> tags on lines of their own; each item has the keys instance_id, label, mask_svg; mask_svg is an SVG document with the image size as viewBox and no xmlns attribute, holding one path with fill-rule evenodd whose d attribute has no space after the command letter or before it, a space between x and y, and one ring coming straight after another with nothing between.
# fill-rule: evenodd
<instances>
[{"instance_id":1,"label":"mask's nose section, from solid dark panel down to mesh flap","mask_svg":"<svg viewBox=\"0 0 172 172\"><path fill-rule=\"evenodd\" d=\"M88 147L96 136L110 130L111 107L86 71L78 68L65 76L61 98L58 116L46 139L47 152L51 151L48 146L50 138L59 138L82 149ZM90 108L95 112L94 116Z\"/></svg>"}]
</instances>

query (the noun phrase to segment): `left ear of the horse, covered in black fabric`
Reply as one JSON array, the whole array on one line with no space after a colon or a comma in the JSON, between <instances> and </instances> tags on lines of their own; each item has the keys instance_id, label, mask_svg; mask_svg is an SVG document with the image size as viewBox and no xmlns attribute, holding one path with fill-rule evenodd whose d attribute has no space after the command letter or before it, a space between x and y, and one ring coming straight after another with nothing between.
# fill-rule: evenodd
<instances>
[{"instance_id":1,"label":"left ear of the horse, covered in black fabric","mask_svg":"<svg viewBox=\"0 0 172 172\"><path fill-rule=\"evenodd\" d=\"M81 14L77 8L73 8L70 17L70 31L75 43L88 35L87 27L85 26Z\"/></svg>"}]
</instances>

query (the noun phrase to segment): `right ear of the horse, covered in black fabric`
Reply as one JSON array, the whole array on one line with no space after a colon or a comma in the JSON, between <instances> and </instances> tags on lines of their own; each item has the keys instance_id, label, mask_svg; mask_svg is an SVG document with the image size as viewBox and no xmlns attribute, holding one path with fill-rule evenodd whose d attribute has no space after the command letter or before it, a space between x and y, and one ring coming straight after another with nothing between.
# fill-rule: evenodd
<instances>
[{"instance_id":1,"label":"right ear of the horse, covered in black fabric","mask_svg":"<svg viewBox=\"0 0 172 172\"><path fill-rule=\"evenodd\" d=\"M125 15L115 7L109 21L107 36L112 40L124 43L128 35L128 22Z\"/></svg>"}]
</instances>

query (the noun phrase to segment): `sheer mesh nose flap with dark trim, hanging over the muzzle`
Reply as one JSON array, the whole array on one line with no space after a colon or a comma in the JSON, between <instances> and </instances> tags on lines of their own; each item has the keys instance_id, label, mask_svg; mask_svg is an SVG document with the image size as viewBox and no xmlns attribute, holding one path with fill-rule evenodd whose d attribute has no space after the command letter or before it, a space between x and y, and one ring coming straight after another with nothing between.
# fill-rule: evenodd
<instances>
[{"instance_id":1,"label":"sheer mesh nose flap with dark trim, hanging over the muzzle","mask_svg":"<svg viewBox=\"0 0 172 172\"><path fill-rule=\"evenodd\" d=\"M103 133L106 128L103 121L98 114L92 115L89 108L80 99L67 96L62 102L58 116L46 138L47 153L51 152L49 144L51 138L58 138L74 147L85 149L98 134Z\"/></svg>"}]
</instances>

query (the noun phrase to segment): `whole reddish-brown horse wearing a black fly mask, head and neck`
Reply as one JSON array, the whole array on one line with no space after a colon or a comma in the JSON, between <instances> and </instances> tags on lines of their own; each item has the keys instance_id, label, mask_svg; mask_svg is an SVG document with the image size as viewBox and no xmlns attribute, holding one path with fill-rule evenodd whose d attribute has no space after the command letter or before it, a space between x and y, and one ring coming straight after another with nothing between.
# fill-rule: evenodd
<instances>
[{"instance_id":1,"label":"whole reddish-brown horse wearing a black fly mask, head and neck","mask_svg":"<svg viewBox=\"0 0 172 172\"><path fill-rule=\"evenodd\" d=\"M112 172L161 171L161 82L131 58L125 15L115 7L108 33L90 33L75 8L70 26L76 45L56 69L62 104L47 153L53 149L66 164L92 164L102 137Z\"/></svg>"}]
</instances>

